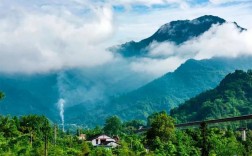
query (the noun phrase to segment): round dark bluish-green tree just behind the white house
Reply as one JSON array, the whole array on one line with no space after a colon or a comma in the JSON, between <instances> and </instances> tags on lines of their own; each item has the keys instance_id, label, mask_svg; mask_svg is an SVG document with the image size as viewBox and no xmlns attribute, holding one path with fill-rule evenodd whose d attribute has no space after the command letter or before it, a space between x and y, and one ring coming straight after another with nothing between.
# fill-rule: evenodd
<instances>
[{"instance_id":1,"label":"round dark bluish-green tree just behind the white house","mask_svg":"<svg viewBox=\"0 0 252 156\"><path fill-rule=\"evenodd\" d=\"M122 129L122 122L117 116L108 117L105 121L104 132L108 135L118 135Z\"/></svg>"}]
</instances>

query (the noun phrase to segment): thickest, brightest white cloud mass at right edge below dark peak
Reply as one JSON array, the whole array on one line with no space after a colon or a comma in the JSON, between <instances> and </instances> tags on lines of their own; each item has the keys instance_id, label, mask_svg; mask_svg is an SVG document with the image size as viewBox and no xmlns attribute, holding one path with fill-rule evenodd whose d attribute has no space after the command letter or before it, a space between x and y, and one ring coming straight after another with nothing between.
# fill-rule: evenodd
<instances>
[{"instance_id":1,"label":"thickest, brightest white cloud mass at right edge below dark peak","mask_svg":"<svg viewBox=\"0 0 252 156\"><path fill-rule=\"evenodd\" d=\"M201 37L186 42L180 48L194 53L195 59L237 57L252 55L251 39L251 30L240 33L234 24L224 24L212 27Z\"/></svg>"}]
</instances>

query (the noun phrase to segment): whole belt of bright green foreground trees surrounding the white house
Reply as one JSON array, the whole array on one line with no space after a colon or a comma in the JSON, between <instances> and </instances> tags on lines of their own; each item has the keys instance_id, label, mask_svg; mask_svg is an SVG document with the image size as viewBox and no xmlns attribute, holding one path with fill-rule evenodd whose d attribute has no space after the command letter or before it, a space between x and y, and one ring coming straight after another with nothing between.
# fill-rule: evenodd
<instances>
[{"instance_id":1,"label":"whole belt of bright green foreground trees surrounding the white house","mask_svg":"<svg viewBox=\"0 0 252 156\"><path fill-rule=\"evenodd\" d=\"M69 133L61 131L44 116L0 116L0 155L189 156L202 155L202 149L212 156L252 154L252 131L242 141L239 131L208 128L204 140L201 129L176 129L174 121L165 112L154 113L148 117L147 131L136 133L139 126L144 126L142 121L122 122L117 116L111 116L103 127ZM80 133L85 133L87 140L97 134L118 135L120 146L94 148L78 139Z\"/></svg>"}]
</instances>

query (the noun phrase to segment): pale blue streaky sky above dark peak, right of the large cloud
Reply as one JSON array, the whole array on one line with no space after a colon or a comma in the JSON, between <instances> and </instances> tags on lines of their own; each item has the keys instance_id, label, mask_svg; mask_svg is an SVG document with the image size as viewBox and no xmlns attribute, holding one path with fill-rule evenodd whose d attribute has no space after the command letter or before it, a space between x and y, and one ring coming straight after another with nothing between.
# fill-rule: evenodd
<instances>
[{"instance_id":1,"label":"pale blue streaky sky above dark peak, right of the large cloud","mask_svg":"<svg viewBox=\"0 0 252 156\"><path fill-rule=\"evenodd\" d=\"M194 19L205 14L216 15L227 21L236 21L246 28L252 27L252 22L248 20L252 18L251 0L141 2L133 3L132 1L132 3L125 2L113 6L115 16L119 20L118 23L120 23L118 27L126 32L125 35L120 35L123 36L123 38L120 38L122 42L131 39L143 39L154 33L162 24L172 20ZM129 19L129 17L134 20ZM132 29L130 30L131 27ZM135 32L134 29L138 30L138 32ZM132 34L137 35L135 37L131 36L130 31L133 32Z\"/></svg>"}]
</instances>

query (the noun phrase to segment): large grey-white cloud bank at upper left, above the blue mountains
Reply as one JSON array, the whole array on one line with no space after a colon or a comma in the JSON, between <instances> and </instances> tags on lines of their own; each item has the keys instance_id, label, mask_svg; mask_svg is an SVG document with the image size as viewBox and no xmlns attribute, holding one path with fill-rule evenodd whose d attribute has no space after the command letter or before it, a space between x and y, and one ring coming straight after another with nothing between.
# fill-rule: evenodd
<instances>
[{"instance_id":1,"label":"large grey-white cloud bank at upper left, above the blue mountains","mask_svg":"<svg viewBox=\"0 0 252 156\"><path fill-rule=\"evenodd\" d=\"M70 10L43 12L13 7L0 16L0 72L47 72L110 61L106 40L113 33L110 7L90 8L89 17Z\"/></svg>"}]
</instances>

